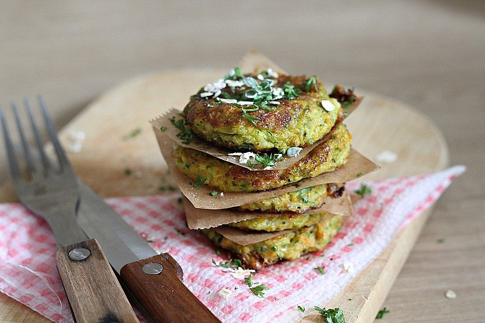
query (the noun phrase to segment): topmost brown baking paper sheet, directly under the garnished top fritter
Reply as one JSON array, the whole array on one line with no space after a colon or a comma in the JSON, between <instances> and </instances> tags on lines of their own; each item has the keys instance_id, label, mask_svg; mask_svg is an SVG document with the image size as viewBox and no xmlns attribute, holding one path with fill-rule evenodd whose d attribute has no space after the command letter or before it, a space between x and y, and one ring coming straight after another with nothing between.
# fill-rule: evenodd
<instances>
[{"instance_id":1,"label":"topmost brown baking paper sheet, directly under the garnished top fritter","mask_svg":"<svg viewBox=\"0 0 485 323\"><path fill-rule=\"evenodd\" d=\"M357 109L357 106L360 104L362 101L363 97L357 97L356 100L347 108L344 109L348 115L350 115L355 109ZM183 140L177 137L177 134L180 132L179 129L175 128L174 125L170 122L170 119L175 118L175 120L179 120L182 118L180 116L181 111L176 110L176 109L171 109L168 111L166 114L163 116L159 116L158 118L155 118L150 121L150 123L153 125L155 128L155 131L163 132L165 135L170 137L173 141L175 141L178 145L186 148L191 148L195 150L199 150L205 153L208 153L216 158L228 161L231 164L244 167L248 170L251 171L260 171L259 168L253 169L248 166L248 164L239 164L239 156L229 156L229 153L232 152L245 152L245 151L235 151L231 150L228 148L224 147L219 147L214 145L211 142L205 141L202 138L198 137L197 135L194 135L191 139L191 142L186 144L183 143ZM347 117L345 116L344 119ZM163 131L161 130L163 127ZM315 143L311 146L304 147L302 151L296 156L289 157L288 155L284 154L279 161L275 162L275 166L272 168L273 170L283 170L286 169L293 164L295 164L298 160L302 159L305 157L310 151L313 150L316 146L318 146L320 143L324 142L325 140L328 139L328 135L325 135L322 137L322 139L315 141Z\"/></svg>"}]
</instances>

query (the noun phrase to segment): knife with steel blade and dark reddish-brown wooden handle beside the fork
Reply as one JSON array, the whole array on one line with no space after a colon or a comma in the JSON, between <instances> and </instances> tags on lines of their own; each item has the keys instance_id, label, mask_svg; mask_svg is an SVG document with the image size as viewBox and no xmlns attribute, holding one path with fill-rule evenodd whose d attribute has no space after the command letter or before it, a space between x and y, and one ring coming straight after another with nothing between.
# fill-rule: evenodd
<instances>
[{"instance_id":1,"label":"knife with steel blade and dark reddish-brown wooden handle beside the fork","mask_svg":"<svg viewBox=\"0 0 485 323\"><path fill-rule=\"evenodd\" d=\"M118 213L79 181L77 221L96 237L121 276L128 296L155 323L217 323L212 312L183 284L183 272L168 253L158 254Z\"/></svg>"}]
</instances>

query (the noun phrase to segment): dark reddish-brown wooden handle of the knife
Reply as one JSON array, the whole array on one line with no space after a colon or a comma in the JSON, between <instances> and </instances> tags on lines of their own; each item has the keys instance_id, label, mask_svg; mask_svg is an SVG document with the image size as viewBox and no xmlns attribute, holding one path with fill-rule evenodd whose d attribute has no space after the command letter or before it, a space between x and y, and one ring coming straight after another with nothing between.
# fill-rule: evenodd
<instances>
[{"instance_id":1,"label":"dark reddish-brown wooden handle of the knife","mask_svg":"<svg viewBox=\"0 0 485 323\"><path fill-rule=\"evenodd\" d=\"M158 273L160 264L163 269ZM182 283L182 268L168 253L128 263L120 274L123 284L156 323L220 323Z\"/></svg>"}]
</instances>

